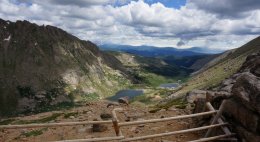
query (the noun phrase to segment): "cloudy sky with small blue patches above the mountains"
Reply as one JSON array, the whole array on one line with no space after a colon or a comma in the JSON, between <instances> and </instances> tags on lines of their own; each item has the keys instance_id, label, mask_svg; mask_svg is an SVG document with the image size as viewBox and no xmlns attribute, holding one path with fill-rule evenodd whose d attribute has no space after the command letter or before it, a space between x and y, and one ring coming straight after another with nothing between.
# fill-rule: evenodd
<instances>
[{"instance_id":1,"label":"cloudy sky with small blue patches above the mountains","mask_svg":"<svg viewBox=\"0 0 260 142\"><path fill-rule=\"evenodd\" d=\"M260 35L259 0L0 0L0 18L96 44L232 49Z\"/></svg>"}]
</instances>

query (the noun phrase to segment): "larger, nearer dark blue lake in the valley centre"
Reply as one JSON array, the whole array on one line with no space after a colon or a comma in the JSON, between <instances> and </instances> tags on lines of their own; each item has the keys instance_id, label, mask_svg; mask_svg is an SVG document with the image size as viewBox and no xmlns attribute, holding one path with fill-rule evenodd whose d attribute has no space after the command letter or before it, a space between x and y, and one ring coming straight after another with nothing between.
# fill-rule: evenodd
<instances>
[{"instance_id":1,"label":"larger, nearer dark blue lake in the valley centre","mask_svg":"<svg viewBox=\"0 0 260 142\"><path fill-rule=\"evenodd\" d=\"M114 96L107 98L111 101L117 101L121 97L128 96L129 99L133 99L136 96L142 95L144 92L143 90L135 90L135 89L126 89L118 91Z\"/></svg>"}]
</instances>

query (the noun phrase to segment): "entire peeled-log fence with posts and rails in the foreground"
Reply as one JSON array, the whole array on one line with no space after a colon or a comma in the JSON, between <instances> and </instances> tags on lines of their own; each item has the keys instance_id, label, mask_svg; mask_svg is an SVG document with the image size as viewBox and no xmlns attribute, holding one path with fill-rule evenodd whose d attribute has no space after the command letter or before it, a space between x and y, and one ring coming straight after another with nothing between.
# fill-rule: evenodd
<instances>
[{"instance_id":1,"label":"entire peeled-log fence with posts and rails in the foreground","mask_svg":"<svg viewBox=\"0 0 260 142\"><path fill-rule=\"evenodd\" d=\"M113 137L102 137L102 138L90 138L90 139L74 139L74 140L62 140L62 141L55 141L55 142L96 142L96 141L120 141L120 142L129 142L129 141L136 141L136 140L144 140L144 139L151 139L157 137L164 137L170 135L177 135L177 134L185 134L190 132L197 132L201 130L207 130L204 138L200 138L198 140L192 140L189 142L204 142L204 141L212 141L212 140L228 140L228 141L237 141L236 138L232 138L235 136L234 133L228 129L228 123L225 123L222 118L222 112L225 107L225 100L222 102L219 110L215 110L210 102L206 102L206 108L209 111L189 114L189 115L181 115L175 117L166 117L161 119L149 119L149 120L140 120L140 121L132 121L132 122L120 122L117 118L116 111L123 111L122 108L115 108L112 111L112 120L108 121L82 121L82 122L64 122L64 123L45 123L45 124L26 124L26 125L0 125L0 129L22 129L22 128L39 128L39 127L59 127L59 126L77 126L77 125L86 125L86 124L113 124L113 128L115 130L116 136ZM155 122L165 122L171 120L179 120L179 119L187 119L187 118L195 118L199 116L205 115L212 115L213 120L211 124L208 126L202 126L197 128L190 128L185 130L178 130L172 131L167 133L159 133L153 135L146 135L146 136L139 136L139 137L132 137L126 138L122 131L120 130L121 127L130 126L130 125L138 125L138 124L146 124L146 123L155 123ZM221 128L224 132L222 135L218 136L210 136L212 131L215 128ZM210 137L209 137L210 136Z\"/></svg>"}]
</instances>

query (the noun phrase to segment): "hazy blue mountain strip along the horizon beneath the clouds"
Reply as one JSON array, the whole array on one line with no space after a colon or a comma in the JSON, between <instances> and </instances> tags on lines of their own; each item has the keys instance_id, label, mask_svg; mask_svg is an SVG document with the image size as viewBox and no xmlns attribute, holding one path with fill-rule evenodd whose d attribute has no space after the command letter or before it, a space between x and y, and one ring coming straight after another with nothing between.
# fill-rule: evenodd
<instances>
[{"instance_id":1,"label":"hazy blue mountain strip along the horizon beneath the clouds","mask_svg":"<svg viewBox=\"0 0 260 142\"><path fill-rule=\"evenodd\" d=\"M99 45L101 50L105 51L121 51L130 54L136 54L145 57L155 56L196 56L205 54L217 54L223 52L222 50L213 50L202 47L192 47L188 49L178 49L174 47L155 47L155 46L131 46L118 44L103 44Z\"/></svg>"}]
</instances>

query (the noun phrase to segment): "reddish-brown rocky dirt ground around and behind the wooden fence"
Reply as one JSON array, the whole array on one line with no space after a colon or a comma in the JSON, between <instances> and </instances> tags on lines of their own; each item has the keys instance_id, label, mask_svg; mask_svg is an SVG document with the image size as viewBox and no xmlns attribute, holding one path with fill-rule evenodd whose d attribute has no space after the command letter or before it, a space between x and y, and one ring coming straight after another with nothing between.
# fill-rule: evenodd
<instances>
[{"instance_id":1,"label":"reddish-brown rocky dirt ground around and behind the wooden fence","mask_svg":"<svg viewBox=\"0 0 260 142\"><path fill-rule=\"evenodd\" d=\"M94 102L84 107L77 107L66 111L53 111L47 113L41 113L37 115L16 117L15 122L28 122L32 120L44 120L42 118L51 117L53 114L55 118L49 122L74 122L74 121L92 121L93 119L99 119L100 114L109 113L113 110L113 107L107 108L106 101ZM188 112L176 108L170 108L169 110L161 110L156 113L149 113L148 108L136 107L136 106L117 106L125 109L123 112L118 112L117 116L121 122L127 121L127 116L130 117L130 121L155 119L177 115L185 115ZM129 118L128 118L129 119ZM22 120L22 121L21 121ZM82 139L82 138L99 138L106 136L115 136L112 125L107 125L108 130L104 132L92 132L92 125L85 126L64 126L53 128L37 128L37 129L16 129L16 130L0 130L0 141L28 141L28 142L41 142L41 141L57 141L68 139ZM125 137L136 137L143 135L151 135L155 133L170 132L174 130L182 130L194 127L192 120L183 119L178 121L168 121L160 123L149 123L144 125L133 125L122 127L122 133ZM188 140L198 139L199 133L188 133L174 136L167 136L163 138L154 138L142 140L143 142L185 142Z\"/></svg>"}]
</instances>

